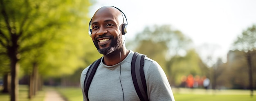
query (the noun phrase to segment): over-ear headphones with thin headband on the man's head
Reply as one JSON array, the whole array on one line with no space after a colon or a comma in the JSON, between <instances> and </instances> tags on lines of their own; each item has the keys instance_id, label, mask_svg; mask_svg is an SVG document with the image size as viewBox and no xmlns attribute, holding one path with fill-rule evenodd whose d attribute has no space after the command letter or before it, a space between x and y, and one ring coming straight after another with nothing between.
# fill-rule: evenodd
<instances>
[{"instance_id":1,"label":"over-ear headphones with thin headband on the man's head","mask_svg":"<svg viewBox=\"0 0 256 101\"><path fill-rule=\"evenodd\" d=\"M112 6L112 7L118 9L118 8L115 7L115 6ZM121 30L121 32L122 32L122 34L124 35L124 34L127 33L126 27L127 27L127 25L128 25L128 21L127 21L127 18L126 18L126 15L124 14L124 12L121 11L120 9L118 9L118 10L122 13L123 21L124 21L124 17L125 17L126 23L127 23L127 24L126 24L126 23L123 22L123 25L122 25L122 30ZM92 26L92 19L91 19L90 22L89 22L89 28L88 28L88 29L89 29L88 33L89 33L90 37L92 37L92 29L91 29L91 26Z\"/></svg>"}]
</instances>

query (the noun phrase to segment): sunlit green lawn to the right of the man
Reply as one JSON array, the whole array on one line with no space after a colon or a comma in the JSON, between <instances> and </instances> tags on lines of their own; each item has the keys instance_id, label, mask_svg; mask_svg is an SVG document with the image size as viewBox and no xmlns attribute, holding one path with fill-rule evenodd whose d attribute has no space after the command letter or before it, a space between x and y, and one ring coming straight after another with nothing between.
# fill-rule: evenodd
<instances>
[{"instance_id":1,"label":"sunlit green lawn to the right of the man","mask_svg":"<svg viewBox=\"0 0 256 101\"><path fill-rule=\"evenodd\" d=\"M254 91L255 92L255 91ZM176 101L256 101L249 90L173 89Z\"/></svg>"}]
</instances>

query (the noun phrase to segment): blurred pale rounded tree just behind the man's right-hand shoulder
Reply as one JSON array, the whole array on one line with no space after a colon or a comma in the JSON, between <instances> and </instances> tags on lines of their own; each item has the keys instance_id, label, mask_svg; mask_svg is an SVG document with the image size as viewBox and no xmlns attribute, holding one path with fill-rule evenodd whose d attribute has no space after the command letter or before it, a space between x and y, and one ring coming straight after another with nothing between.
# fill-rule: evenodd
<instances>
[{"instance_id":1,"label":"blurred pale rounded tree just behind the man's right-hand shoulder","mask_svg":"<svg viewBox=\"0 0 256 101\"><path fill-rule=\"evenodd\" d=\"M170 25L147 26L127 45L157 61L173 85L180 83L176 80L180 80L182 75L202 74L204 70L200 64L202 61L191 47L191 40Z\"/></svg>"}]
</instances>

